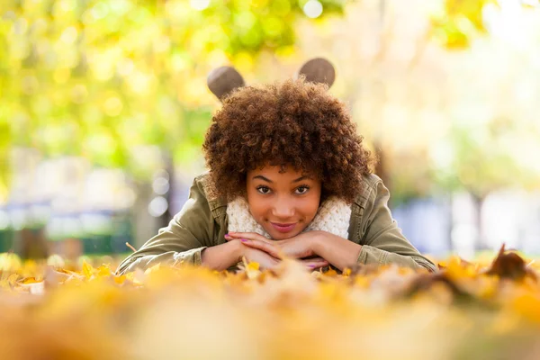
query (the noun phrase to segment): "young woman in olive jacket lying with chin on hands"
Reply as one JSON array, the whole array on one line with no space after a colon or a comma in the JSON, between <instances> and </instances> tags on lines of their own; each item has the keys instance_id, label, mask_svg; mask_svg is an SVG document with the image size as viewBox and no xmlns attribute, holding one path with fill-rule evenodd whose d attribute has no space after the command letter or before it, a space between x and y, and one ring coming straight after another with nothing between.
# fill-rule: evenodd
<instances>
[{"instance_id":1,"label":"young woman in olive jacket lying with chin on hands","mask_svg":"<svg viewBox=\"0 0 540 360\"><path fill-rule=\"evenodd\" d=\"M240 86L223 98L182 211L119 266L158 263L223 270L242 257L284 257L311 269L397 264L435 270L401 234L390 193L346 105L304 79Z\"/></svg>"}]
</instances>

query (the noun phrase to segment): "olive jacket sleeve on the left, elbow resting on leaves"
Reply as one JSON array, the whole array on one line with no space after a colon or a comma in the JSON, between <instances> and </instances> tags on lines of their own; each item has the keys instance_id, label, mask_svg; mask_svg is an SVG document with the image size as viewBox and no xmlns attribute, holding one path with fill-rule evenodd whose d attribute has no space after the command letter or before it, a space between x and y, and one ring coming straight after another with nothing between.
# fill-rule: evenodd
<instances>
[{"instance_id":1,"label":"olive jacket sleeve on the left, elbow resting on leaves","mask_svg":"<svg viewBox=\"0 0 540 360\"><path fill-rule=\"evenodd\" d=\"M201 252L211 246L215 223L198 178L193 181L189 199L182 210L166 228L159 229L154 238L121 262L116 270L118 275L136 268L144 270L158 263L201 265Z\"/></svg>"}]
</instances>

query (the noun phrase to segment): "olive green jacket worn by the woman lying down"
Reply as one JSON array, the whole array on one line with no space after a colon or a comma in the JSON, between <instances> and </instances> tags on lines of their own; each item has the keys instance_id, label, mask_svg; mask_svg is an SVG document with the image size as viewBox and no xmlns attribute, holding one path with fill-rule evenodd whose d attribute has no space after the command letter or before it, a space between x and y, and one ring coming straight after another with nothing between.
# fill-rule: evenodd
<instances>
[{"instance_id":1,"label":"olive green jacket worn by the woman lying down","mask_svg":"<svg viewBox=\"0 0 540 360\"><path fill-rule=\"evenodd\" d=\"M348 239L362 245L359 264L397 264L435 270L434 264L419 254L401 234L388 208L390 193L376 175L363 177L363 191L351 205ZM206 247L225 243L227 202L211 196L208 173L195 177L189 199L166 228L121 262L118 274L158 263L201 265Z\"/></svg>"}]
</instances>

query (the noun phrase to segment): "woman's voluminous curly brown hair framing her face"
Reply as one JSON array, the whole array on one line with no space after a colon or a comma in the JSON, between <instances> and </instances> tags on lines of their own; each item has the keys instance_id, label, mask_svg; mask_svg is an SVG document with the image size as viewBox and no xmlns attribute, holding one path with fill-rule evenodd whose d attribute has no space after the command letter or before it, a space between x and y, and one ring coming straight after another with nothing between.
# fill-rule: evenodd
<instances>
[{"instance_id":1,"label":"woman's voluminous curly brown hair framing her face","mask_svg":"<svg viewBox=\"0 0 540 360\"><path fill-rule=\"evenodd\" d=\"M202 148L213 191L227 201L245 195L248 170L269 164L316 175L323 199L351 203L374 166L362 141L346 104L327 85L300 78L229 94Z\"/></svg>"}]
</instances>

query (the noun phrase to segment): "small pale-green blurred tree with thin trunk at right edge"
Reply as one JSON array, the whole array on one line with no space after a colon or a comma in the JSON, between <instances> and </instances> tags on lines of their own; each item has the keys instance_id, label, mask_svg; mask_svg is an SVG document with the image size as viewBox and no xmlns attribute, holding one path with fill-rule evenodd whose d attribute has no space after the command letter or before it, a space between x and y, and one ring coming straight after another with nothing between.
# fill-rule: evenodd
<instances>
[{"instance_id":1,"label":"small pale-green blurred tree with thin trunk at right edge","mask_svg":"<svg viewBox=\"0 0 540 360\"><path fill-rule=\"evenodd\" d=\"M527 144L538 136L523 123L500 117L482 128L474 124L455 124L446 143L441 144L445 158L435 159L433 179L442 188L464 190L473 195L477 249L488 247L482 227L482 208L487 196L503 188L533 189L537 186L538 174L524 161L523 157L527 155L518 142ZM533 158L532 154L528 156Z\"/></svg>"}]
</instances>

